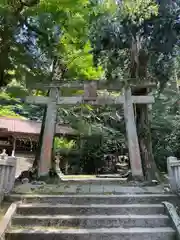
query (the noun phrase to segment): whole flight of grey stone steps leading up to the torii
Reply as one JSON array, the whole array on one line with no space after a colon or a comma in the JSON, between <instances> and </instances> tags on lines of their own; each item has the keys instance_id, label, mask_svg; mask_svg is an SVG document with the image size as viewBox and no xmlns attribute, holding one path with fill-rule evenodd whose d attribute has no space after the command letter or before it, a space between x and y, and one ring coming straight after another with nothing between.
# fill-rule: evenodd
<instances>
[{"instance_id":1,"label":"whole flight of grey stone steps leading up to the torii","mask_svg":"<svg viewBox=\"0 0 180 240\"><path fill-rule=\"evenodd\" d=\"M5 239L173 240L163 201L177 199L165 193L30 195L18 206Z\"/></svg>"}]
</instances>

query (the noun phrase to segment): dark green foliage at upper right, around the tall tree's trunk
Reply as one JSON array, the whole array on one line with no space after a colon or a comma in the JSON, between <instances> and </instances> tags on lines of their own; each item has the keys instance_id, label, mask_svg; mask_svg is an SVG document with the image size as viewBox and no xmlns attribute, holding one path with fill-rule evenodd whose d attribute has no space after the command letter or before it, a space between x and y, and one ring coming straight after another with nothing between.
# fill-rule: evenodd
<instances>
[{"instance_id":1,"label":"dark green foliage at upper right, around the tall tree's trunk","mask_svg":"<svg viewBox=\"0 0 180 240\"><path fill-rule=\"evenodd\" d=\"M126 82L130 78L132 44L139 39L141 49L149 57L148 65L142 65L148 78L165 86L178 55L175 47L180 36L180 3L178 1L176 7L173 4L171 1L168 5L157 5L155 1L125 0L117 5L113 14L106 11L93 19L90 40L94 62L96 66L103 66L108 80Z\"/></svg>"}]
</instances>

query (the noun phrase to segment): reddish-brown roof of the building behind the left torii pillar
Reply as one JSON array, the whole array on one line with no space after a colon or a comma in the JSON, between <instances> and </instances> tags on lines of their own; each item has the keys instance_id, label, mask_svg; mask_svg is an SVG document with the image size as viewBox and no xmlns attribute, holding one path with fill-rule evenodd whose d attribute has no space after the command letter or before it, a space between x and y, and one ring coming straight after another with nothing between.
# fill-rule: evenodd
<instances>
[{"instance_id":1,"label":"reddish-brown roof of the building behind the left torii pillar","mask_svg":"<svg viewBox=\"0 0 180 240\"><path fill-rule=\"evenodd\" d=\"M39 135L41 122L18 118L0 117L0 133ZM56 125L57 135L75 135L75 130L67 125Z\"/></svg>"}]
</instances>

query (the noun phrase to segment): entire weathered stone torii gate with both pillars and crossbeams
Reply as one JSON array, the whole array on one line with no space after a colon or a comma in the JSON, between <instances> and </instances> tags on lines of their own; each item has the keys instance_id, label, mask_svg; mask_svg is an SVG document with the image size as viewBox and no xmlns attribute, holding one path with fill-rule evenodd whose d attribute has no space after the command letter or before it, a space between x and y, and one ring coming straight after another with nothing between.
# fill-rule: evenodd
<instances>
[{"instance_id":1,"label":"entire weathered stone torii gate with both pillars and crossbeams","mask_svg":"<svg viewBox=\"0 0 180 240\"><path fill-rule=\"evenodd\" d=\"M154 103L153 96L132 96L131 87L124 89L122 96L111 96L111 95L98 95L97 87L99 85L100 90L110 89L118 90L119 87L107 86L100 84L99 81L87 81L86 83L74 84L49 84L42 86L37 84L36 86L40 89L48 88L50 93L48 97L43 96L29 96L26 101L30 104L47 105L47 114L45 120L45 129L43 135L43 142L41 147L40 161L38 166L38 176L46 176L51 168L51 156L53 147L53 138L55 135L56 116L57 116L57 105L77 105L88 103L91 105L118 105L123 104L124 117L126 132L128 138L129 157L131 164L132 177L134 179L143 178L142 162L139 149L139 142L136 130L136 123L134 117L133 104L152 104ZM61 97L59 96L59 89L64 87L82 89L84 88L84 95L72 96L72 97Z\"/></svg>"}]
</instances>

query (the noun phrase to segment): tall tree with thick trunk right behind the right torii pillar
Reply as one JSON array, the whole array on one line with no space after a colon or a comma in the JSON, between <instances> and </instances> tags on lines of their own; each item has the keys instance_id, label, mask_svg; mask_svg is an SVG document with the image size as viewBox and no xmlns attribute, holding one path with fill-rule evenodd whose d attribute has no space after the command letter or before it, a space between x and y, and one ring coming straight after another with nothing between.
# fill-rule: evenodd
<instances>
[{"instance_id":1,"label":"tall tree with thick trunk right behind the right torii pillar","mask_svg":"<svg viewBox=\"0 0 180 240\"><path fill-rule=\"evenodd\" d=\"M109 81L122 81L127 85L130 81L153 79L163 88L170 79L177 54L174 50L180 36L180 3L177 1L175 8L170 2L157 4L150 0L106 2L111 2L109 12L99 14L91 28L96 65L103 65ZM148 109L137 106L136 112L145 176L154 179L156 166Z\"/></svg>"}]
</instances>

